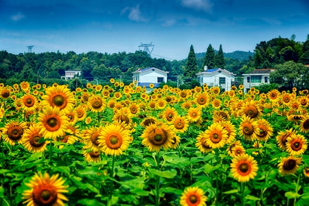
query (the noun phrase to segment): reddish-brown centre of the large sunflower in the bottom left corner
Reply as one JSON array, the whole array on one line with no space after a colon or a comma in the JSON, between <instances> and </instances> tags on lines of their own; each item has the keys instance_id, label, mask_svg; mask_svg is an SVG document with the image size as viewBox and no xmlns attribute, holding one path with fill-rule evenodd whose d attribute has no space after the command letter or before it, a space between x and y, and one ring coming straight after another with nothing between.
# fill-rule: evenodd
<instances>
[{"instance_id":1,"label":"reddish-brown centre of the large sunflower in the bottom left corner","mask_svg":"<svg viewBox=\"0 0 309 206\"><path fill-rule=\"evenodd\" d=\"M33 190L33 201L36 205L54 205L57 198L57 190L53 185L38 185Z\"/></svg>"}]
</instances>

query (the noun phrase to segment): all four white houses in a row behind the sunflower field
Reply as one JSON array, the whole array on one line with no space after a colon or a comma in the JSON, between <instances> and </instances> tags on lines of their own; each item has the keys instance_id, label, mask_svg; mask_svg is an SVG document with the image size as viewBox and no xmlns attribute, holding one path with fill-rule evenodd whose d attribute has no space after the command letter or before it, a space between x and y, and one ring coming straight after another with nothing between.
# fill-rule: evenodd
<instances>
[{"instance_id":1,"label":"all four white houses in a row behind the sunflower field","mask_svg":"<svg viewBox=\"0 0 309 206\"><path fill-rule=\"evenodd\" d=\"M244 76L244 92L247 93L251 87L256 87L259 84L269 84L269 75L275 69L255 69L251 73L242 74ZM80 76L80 70L65 71L65 80L73 79L75 76ZM198 82L207 84L209 87L220 87L222 91L229 91L232 85L236 84L236 74L226 69L208 69L204 67L202 72L196 73ZM137 69L133 71L133 82L136 86L149 87L154 84L155 88L159 87L161 82L168 81L168 71L163 71L155 67L145 69Z\"/></svg>"}]
</instances>

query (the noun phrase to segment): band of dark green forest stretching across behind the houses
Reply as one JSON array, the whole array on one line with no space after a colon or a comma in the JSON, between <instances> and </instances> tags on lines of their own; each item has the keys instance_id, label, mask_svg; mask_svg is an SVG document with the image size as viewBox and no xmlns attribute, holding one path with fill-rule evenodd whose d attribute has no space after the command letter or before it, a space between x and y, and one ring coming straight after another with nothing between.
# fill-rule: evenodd
<instances>
[{"instance_id":1,"label":"band of dark green forest stretching across behind the houses","mask_svg":"<svg viewBox=\"0 0 309 206\"><path fill-rule=\"evenodd\" d=\"M190 54L191 53L191 54ZM192 55L193 54L193 55ZM44 52L10 54L6 51L0 52L0 82L14 84L21 81L33 83L67 84L62 80L65 71L80 69L81 76L78 84L87 84L95 78L100 83L108 82L110 78L130 81L132 72L146 67L157 67L163 71L169 71L169 79L175 80L176 76L194 78L194 72L203 71L207 65L210 68L220 67L236 73L238 81L241 82L242 73L248 73L253 69L276 68L286 62L295 64L309 64L309 35L305 42L296 42L295 35L290 38L273 38L270 41L261 41L253 52L235 51L224 53L222 45L215 50L211 44L205 53L195 53L193 45L190 47L188 58L183 60L165 60L163 58L152 58L146 52L135 53L119 52L107 54L99 52L87 52L76 54L76 52ZM187 73L187 71L192 73ZM280 76L276 76L279 82Z\"/></svg>"}]
</instances>

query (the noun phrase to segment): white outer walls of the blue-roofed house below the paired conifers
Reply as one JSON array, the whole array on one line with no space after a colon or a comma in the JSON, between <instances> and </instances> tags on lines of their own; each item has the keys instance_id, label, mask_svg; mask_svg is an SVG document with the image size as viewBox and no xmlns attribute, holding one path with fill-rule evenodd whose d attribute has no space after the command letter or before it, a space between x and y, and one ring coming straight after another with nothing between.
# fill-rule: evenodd
<instances>
[{"instance_id":1,"label":"white outer walls of the blue-roofed house below the paired conifers","mask_svg":"<svg viewBox=\"0 0 309 206\"><path fill-rule=\"evenodd\" d=\"M231 89L231 82L235 81L234 76L225 72L201 73L197 77L201 85L207 84L208 87L220 87L225 89L225 91L229 91ZM225 78L225 84L219 84L220 78Z\"/></svg>"}]
</instances>

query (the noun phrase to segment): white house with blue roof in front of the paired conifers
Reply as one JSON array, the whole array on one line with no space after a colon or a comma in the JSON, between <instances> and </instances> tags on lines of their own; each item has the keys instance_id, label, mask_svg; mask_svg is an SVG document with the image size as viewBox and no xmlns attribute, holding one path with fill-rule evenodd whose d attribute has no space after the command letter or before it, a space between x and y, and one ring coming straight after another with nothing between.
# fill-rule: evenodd
<instances>
[{"instance_id":1,"label":"white house with blue roof in front of the paired conifers","mask_svg":"<svg viewBox=\"0 0 309 206\"><path fill-rule=\"evenodd\" d=\"M226 69L207 69L205 66L204 71L196 73L196 76L201 85L207 84L208 87L220 87L222 91L229 91L236 74Z\"/></svg>"}]
</instances>

